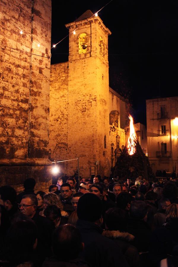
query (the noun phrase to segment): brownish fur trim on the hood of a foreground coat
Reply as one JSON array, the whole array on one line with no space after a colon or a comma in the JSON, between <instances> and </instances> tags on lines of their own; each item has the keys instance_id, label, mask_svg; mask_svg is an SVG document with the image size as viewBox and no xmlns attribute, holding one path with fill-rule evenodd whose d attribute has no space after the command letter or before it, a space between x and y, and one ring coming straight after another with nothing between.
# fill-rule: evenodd
<instances>
[{"instance_id":1,"label":"brownish fur trim on the hood of a foreground coat","mask_svg":"<svg viewBox=\"0 0 178 267\"><path fill-rule=\"evenodd\" d=\"M109 239L119 239L127 242L131 242L134 240L135 236L131 235L127 232L120 232L120 231L104 231L102 233L103 236L109 238Z\"/></svg>"}]
</instances>

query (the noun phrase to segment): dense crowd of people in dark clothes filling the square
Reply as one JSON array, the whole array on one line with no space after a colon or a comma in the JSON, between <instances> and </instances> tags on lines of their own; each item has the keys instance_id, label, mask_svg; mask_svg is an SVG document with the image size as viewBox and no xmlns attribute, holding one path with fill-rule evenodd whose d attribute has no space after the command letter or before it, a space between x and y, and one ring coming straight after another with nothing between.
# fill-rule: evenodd
<instances>
[{"instance_id":1,"label":"dense crowd of people in dark clothes filling the square","mask_svg":"<svg viewBox=\"0 0 178 267\"><path fill-rule=\"evenodd\" d=\"M49 192L35 185L0 187L0 266L178 266L177 178L65 175Z\"/></svg>"}]
</instances>

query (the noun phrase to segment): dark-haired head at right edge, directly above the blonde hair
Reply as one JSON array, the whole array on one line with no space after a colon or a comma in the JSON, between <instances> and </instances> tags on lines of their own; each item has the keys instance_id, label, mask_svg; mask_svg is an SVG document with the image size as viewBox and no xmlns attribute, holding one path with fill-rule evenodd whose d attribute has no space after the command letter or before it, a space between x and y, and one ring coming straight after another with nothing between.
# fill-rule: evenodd
<instances>
[{"instance_id":1,"label":"dark-haired head at right edge, directly above the blonde hair","mask_svg":"<svg viewBox=\"0 0 178 267\"><path fill-rule=\"evenodd\" d=\"M178 203L177 187L174 182L166 182L163 187L163 197L169 198L172 203Z\"/></svg>"}]
</instances>

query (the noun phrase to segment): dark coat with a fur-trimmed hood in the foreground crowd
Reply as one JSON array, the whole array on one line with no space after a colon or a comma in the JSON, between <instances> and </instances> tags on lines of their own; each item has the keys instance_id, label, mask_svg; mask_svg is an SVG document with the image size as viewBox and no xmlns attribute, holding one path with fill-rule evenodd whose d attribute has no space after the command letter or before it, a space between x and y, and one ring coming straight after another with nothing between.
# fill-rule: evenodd
<instances>
[{"instance_id":1,"label":"dark coat with a fur-trimmed hood in the foreground crowd","mask_svg":"<svg viewBox=\"0 0 178 267\"><path fill-rule=\"evenodd\" d=\"M121 248L125 259L128 262L130 267L139 267L139 253L136 247L129 244L131 241L134 241L134 236L120 231L104 231L103 236L106 236L109 239L114 240Z\"/></svg>"}]
</instances>

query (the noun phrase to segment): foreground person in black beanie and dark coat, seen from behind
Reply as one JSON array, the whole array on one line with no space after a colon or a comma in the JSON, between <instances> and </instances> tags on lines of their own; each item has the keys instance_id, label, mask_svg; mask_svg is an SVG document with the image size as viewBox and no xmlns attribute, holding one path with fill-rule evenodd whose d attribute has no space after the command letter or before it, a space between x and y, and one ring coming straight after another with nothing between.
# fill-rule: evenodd
<instances>
[{"instance_id":1,"label":"foreground person in black beanie and dark coat, seen from behind","mask_svg":"<svg viewBox=\"0 0 178 267\"><path fill-rule=\"evenodd\" d=\"M94 194L86 193L78 201L76 227L80 230L85 247L81 256L91 267L128 266L120 247L102 236L102 202Z\"/></svg>"}]
</instances>

